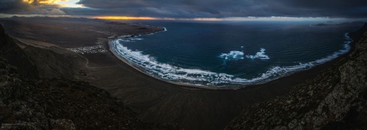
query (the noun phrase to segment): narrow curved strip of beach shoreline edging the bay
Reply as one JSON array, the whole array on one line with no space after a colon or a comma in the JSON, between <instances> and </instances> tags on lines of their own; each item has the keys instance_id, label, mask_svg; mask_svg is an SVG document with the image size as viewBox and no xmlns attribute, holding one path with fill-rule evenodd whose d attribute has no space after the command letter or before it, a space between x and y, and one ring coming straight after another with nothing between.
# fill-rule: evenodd
<instances>
[{"instance_id":1,"label":"narrow curved strip of beach shoreline edging the bay","mask_svg":"<svg viewBox=\"0 0 367 130\"><path fill-rule=\"evenodd\" d=\"M148 26L148 25L145 25L145 26ZM131 35L131 37L137 37L137 36L141 36L141 35L152 35L152 34L155 34L155 33L159 33L159 32L164 32L164 31L167 31L167 29L165 27L161 27L163 28L163 31L157 31L157 32L154 32L154 33L145 33L145 34L137 34L137 35ZM252 88L252 87L258 87L258 86L267 86L268 84L272 84L274 82L277 82L277 80L280 80L280 79L283 79L283 78L292 78L293 75L298 75L298 74L303 74L303 73L307 73L307 71L311 72L311 71L315 71L315 70L318 70L318 71L321 71L320 69L324 69L325 68L325 65L329 65L329 64L333 64L337 61L339 61L339 59L341 59L342 57L344 56L347 56L349 55L351 52L354 51L354 44L355 42L358 40L358 37L354 37L354 36L351 36L351 33L353 32L349 32L347 33L348 34L348 37L350 39L352 39L352 41L348 44L349 45L349 51L345 52L344 54L341 54L340 56L337 56L329 61L325 61L321 64L318 64L318 65L315 65L309 69L305 69L305 70L300 70L300 71L295 71L293 73L289 73L289 74L285 74L283 76L280 76L278 78L275 78L275 79L272 79L272 80L268 80L268 81L264 81L264 82L260 82L260 83L256 83L256 84L244 84L244 85L239 85L239 86L208 86L208 85L194 85L194 84L189 84L189 83L180 83L180 82L174 82L174 81L170 81L170 80L165 80L165 79L162 79L162 78L159 78L159 77L156 77L154 75L151 75L151 74L148 74L142 70L140 70L138 67L134 66L132 63L130 63L129 61L127 61L125 58L119 56L118 54L115 53L115 51L113 50L113 47L112 47L112 41L113 40L116 40L117 38L115 39L109 39L108 40L108 47L109 47L109 51L115 56L117 57L119 60L123 61L125 64L127 64L128 66L132 67L133 69L137 70L138 72L140 73L143 73L145 75L148 75L150 77L153 77L155 79L158 79L160 81L163 81L163 82L166 82L166 83L170 83L170 84L175 84L175 85L180 85L180 86L185 86L185 87L194 87L194 88L201 88L201 89L209 89L209 90L243 90L243 89L246 89L246 88ZM121 38L121 37L120 37ZM122 37L122 38L129 38L129 37ZM327 67L326 67L327 68Z\"/></svg>"}]
</instances>

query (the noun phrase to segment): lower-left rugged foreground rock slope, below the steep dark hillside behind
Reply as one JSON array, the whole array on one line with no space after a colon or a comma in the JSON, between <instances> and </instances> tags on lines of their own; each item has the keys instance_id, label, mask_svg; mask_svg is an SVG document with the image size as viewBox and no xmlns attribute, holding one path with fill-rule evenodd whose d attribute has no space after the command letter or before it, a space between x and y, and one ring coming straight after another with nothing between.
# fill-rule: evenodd
<instances>
[{"instance_id":1,"label":"lower-left rugged foreground rock slope, below the steep dark hillside behind","mask_svg":"<svg viewBox=\"0 0 367 130\"><path fill-rule=\"evenodd\" d=\"M6 62L0 58L1 62ZM82 81L22 81L2 67L0 122L25 130L154 130L172 125L143 122L105 90Z\"/></svg>"}]
</instances>

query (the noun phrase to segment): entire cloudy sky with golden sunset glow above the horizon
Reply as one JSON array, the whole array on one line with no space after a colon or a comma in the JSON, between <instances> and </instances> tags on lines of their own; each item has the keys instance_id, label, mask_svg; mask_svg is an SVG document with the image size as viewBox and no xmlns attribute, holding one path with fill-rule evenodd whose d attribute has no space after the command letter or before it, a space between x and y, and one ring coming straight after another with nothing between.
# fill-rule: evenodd
<instances>
[{"instance_id":1,"label":"entire cloudy sky with golden sunset glow above the horizon","mask_svg":"<svg viewBox=\"0 0 367 130\"><path fill-rule=\"evenodd\" d=\"M0 15L99 19L366 19L367 0L0 0Z\"/></svg>"}]
</instances>

